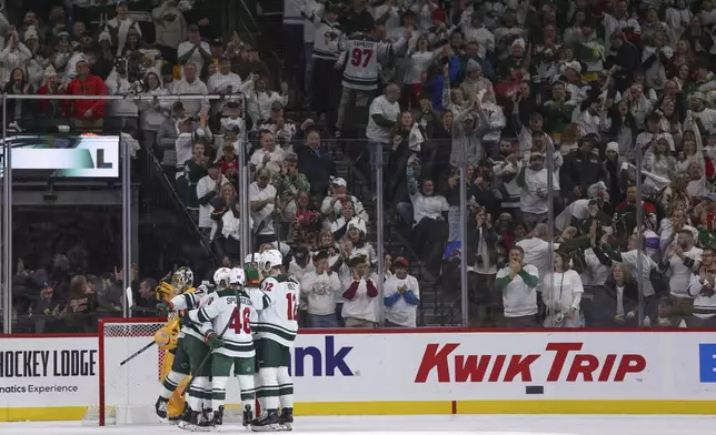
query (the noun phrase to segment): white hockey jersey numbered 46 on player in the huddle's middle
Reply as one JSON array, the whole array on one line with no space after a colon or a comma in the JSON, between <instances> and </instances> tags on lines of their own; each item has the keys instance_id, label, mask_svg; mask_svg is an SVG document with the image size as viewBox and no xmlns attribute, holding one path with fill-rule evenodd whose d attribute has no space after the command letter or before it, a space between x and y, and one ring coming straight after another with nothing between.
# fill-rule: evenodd
<instances>
[{"instance_id":1,"label":"white hockey jersey numbered 46 on player in the huddle's middle","mask_svg":"<svg viewBox=\"0 0 716 435\"><path fill-rule=\"evenodd\" d=\"M210 323L210 328L223 335L223 346L213 352L233 358L256 356L251 336L251 318L256 308L246 294L236 294L231 289L209 293L201 308L189 312L189 318L201 324ZM228 325L228 326L227 326ZM201 328L207 332L208 325ZM226 331L225 331L226 330Z\"/></svg>"}]
</instances>

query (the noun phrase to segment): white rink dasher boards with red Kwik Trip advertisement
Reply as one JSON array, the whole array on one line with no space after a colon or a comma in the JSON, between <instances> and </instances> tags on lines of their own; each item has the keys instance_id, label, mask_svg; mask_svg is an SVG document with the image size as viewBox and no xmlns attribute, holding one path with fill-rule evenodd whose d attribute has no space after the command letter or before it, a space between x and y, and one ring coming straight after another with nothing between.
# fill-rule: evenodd
<instances>
[{"instance_id":1,"label":"white rink dasher boards with red Kwik Trip advertisement","mask_svg":"<svg viewBox=\"0 0 716 435\"><path fill-rule=\"evenodd\" d=\"M297 415L714 414L716 331L304 331ZM82 419L99 403L92 334L6 335L0 422ZM31 340L29 340L31 338ZM105 338L107 406L153 407L159 350ZM238 407L238 383L228 386Z\"/></svg>"}]
</instances>

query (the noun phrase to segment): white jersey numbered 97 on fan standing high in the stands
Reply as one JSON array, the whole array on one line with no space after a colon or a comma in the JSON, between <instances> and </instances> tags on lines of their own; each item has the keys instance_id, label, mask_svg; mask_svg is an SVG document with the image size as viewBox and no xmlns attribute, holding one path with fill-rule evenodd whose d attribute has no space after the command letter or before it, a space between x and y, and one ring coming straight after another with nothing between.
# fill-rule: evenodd
<instances>
[{"instance_id":1,"label":"white jersey numbered 97 on fan standing high in the stands","mask_svg":"<svg viewBox=\"0 0 716 435\"><path fill-rule=\"evenodd\" d=\"M405 39L396 42L400 47L404 47L405 43ZM341 84L358 91L378 89L378 64L391 55L395 49L394 44L378 42L364 34L356 34L341 41L338 47L342 51L338 64L345 67Z\"/></svg>"}]
</instances>

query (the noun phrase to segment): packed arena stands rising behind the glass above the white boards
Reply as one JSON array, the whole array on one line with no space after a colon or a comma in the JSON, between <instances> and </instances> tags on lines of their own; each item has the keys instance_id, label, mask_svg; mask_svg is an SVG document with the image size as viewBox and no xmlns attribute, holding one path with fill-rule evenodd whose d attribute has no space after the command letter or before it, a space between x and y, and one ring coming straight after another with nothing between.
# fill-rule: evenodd
<instances>
[{"instance_id":1,"label":"packed arena stands rising behind the glass above the white boards","mask_svg":"<svg viewBox=\"0 0 716 435\"><path fill-rule=\"evenodd\" d=\"M4 152L119 138L131 185L12 159L12 332L269 247L301 327L716 326L710 0L23 4Z\"/></svg>"}]
</instances>

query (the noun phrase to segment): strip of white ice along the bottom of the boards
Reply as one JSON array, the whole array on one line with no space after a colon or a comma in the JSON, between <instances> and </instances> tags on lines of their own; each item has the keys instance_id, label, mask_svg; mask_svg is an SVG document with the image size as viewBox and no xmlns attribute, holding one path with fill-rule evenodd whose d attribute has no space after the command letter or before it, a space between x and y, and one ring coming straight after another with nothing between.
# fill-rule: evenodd
<instances>
[{"instance_id":1,"label":"strip of white ice along the bottom of the boards","mask_svg":"<svg viewBox=\"0 0 716 435\"><path fill-rule=\"evenodd\" d=\"M350 435L716 435L716 416L450 415L297 417L297 434ZM251 433L227 424L221 433ZM80 423L0 423L2 435L187 434L176 426L88 426Z\"/></svg>"}]
</instances>

